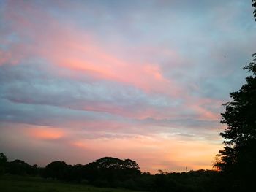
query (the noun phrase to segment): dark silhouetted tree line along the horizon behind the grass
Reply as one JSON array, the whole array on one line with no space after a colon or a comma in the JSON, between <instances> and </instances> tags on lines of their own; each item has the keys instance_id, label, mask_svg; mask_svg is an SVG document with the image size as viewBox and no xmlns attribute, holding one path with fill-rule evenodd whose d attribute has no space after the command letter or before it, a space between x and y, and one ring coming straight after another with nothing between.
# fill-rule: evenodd
<instances>
[{"instance_id":1,"label":"dark silhouetted tree line along the horizon behind the grass","mask_svg":"<svg viewBox=\"0 0 256 192\"><path fill-rule=\"evenodd\" d=\"M217 172L212 170L181 173L169 173L159 170L159 173L153 175L148 172L141 172L135 161L112 157L100 158L85 165L69 165L64 161L53 161L45 167L39 167L37 165L29 165L22 160L7 161L4 153L0 153L0 173L139 191L202 192L209 191L208 186L217 175Z\"/></svg>"}]
</instances>

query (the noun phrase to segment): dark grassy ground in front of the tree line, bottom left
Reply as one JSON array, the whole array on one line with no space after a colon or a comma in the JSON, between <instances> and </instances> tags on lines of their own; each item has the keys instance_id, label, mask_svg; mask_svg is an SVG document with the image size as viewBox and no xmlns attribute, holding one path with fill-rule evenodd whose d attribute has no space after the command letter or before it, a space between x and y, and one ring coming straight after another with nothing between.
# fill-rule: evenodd
<instances>
[{"instance_id":1,"label":"dark grassy ground in front of the tree line, bottom left","mask_svg":"<svg viewBox=\"0 0 256 192\"><path fill-rule=\"evenodd\" d=\"M0 176L3 192L132 192L125 189L95 188L90 185L61 183L40 177Z\"/></svg>"}]
</instances>

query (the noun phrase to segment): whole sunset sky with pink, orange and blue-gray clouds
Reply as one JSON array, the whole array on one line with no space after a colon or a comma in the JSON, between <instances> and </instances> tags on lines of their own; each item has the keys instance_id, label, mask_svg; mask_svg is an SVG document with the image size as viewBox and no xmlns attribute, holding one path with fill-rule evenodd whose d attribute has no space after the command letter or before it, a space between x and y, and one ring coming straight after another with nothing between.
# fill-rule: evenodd
<instances>
[{"instance_id":1,"label":"whole sunset sky with pink, orange and blue-gray clouds","mask_svg":"<svg viewBox=\"0 0 256 192\"><path fill-rule=\"evenodd\" d=\"M0 0L0 152L212 169L256 51L251 0Z\"/></svg>"}]
</instances>

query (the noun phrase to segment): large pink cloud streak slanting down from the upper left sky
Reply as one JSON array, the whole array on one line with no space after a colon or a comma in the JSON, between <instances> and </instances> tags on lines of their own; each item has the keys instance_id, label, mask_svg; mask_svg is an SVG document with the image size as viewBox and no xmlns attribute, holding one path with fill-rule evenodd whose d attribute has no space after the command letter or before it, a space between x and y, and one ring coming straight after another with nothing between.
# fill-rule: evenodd
<instances>
[{"instance_id":1,"label":"large pink cloud streak slanting down from the upper left sky","mask_svg":"<svg viewBox=\"0 0 256 192\"><path fill-rule=\"evenodd\" d=\"M10 28L20 38L26 39L22 46L15 45L23 57L41 57L59 67L83 72L101 80L127 83L143 91L170 92L173 96L181 92L173 81L163 77L158 64L131 63L118 58L108 51L108 45L99 45L89 31L61 23L32 4L11 2L7 8L5 18L11 20ZM37 23L37 20L41 23ZM12 55L12 50L4 55L4 61L14 60L18 63L22 59L17 58L16 54Z\"/></svg>"}]
</instances>

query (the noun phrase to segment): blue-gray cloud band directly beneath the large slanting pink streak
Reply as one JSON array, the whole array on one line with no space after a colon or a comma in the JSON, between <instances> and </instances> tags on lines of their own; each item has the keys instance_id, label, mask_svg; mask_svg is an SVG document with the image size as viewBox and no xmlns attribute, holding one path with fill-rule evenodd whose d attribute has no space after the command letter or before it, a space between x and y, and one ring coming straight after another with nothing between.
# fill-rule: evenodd
<instances>
[{"instance_id":1,"label":"blue-gray cloud band directly beneath the large slanting pink streak","mask_svg":"<svg viewBox=\"0 0 256 192\"><path fill-rule=\"evenodd\" d=\"M20 104L49 105L124 116L132 116L132 113L143 112L148 108L162 110L177 104L166 96L147 94L118 82L58 77L54 72L49 72L45 64L2 65L0 68L0 97Z\"/></svg>"}]
</instances>

